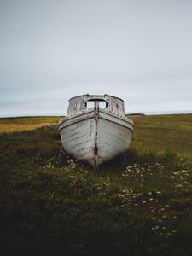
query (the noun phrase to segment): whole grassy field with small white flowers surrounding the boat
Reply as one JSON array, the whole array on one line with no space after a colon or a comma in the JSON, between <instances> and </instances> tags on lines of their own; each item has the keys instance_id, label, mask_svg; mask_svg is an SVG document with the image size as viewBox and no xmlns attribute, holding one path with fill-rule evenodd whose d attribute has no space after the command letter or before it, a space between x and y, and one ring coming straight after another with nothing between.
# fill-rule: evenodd
<instances>
[{"instance_id":1,"label":"whole grassy field with small white flowers surrounding the boat","mask_svg":"<svg viewBox=\"0 0 192 256\"><path fill-rule=\"evenodd\" d=\"M131 116L99 172L61 157L58 119L0 119L1 254L192 255L192 114Z\"/></svg>"}]
</instances>

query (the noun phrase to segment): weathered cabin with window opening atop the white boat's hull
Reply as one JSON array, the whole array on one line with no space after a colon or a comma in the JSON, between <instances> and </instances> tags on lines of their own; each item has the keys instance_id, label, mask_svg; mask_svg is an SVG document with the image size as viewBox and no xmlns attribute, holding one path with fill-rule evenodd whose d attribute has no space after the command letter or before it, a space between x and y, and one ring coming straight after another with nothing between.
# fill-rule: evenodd
<instances>
[{"instance_id":1,"label":"weathered cabin with window opening atop the white boat's hull","mask_svg":"<svg viewBox=\"0 0 192 256\"><path fill-rule=\"evenodd\" d=\"M107 94L103 96L89 94L75 96L69 100L67 114L73 115L93 108L94 102L99 102L99 108L105 109L109 113L116 113L120 116L125 115L124 101L118 97L109 96Z\"/></svg>"}]
</instances>

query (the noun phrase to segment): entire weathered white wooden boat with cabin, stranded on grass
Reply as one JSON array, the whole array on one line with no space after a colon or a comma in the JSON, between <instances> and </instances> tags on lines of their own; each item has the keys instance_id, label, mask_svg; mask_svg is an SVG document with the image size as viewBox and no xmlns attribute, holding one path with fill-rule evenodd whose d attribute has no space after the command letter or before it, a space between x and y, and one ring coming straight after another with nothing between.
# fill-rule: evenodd
<instances>
[{"instance_id":1,"label":"entire weathered white wooden boat with cabin, stranded on grass","mask_svg":"<svg viewBox=\"0 0 192 256\"><path fill-rule=\"evenodd\" d=\"M90 102L94 102L92 108ZM98 168L129 148L133 126L133 121L125 117L122 99L87 94L69 100L67 117L59 121L58 130L68 154Z\"/></svg>"}]
</instances>

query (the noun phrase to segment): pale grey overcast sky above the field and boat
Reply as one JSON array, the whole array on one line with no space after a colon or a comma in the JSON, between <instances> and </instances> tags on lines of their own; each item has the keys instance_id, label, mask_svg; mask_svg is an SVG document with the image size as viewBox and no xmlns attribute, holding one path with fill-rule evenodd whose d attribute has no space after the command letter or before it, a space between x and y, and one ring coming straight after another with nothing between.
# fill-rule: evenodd
<instances>
[{"instance_id":1,"label":"pale grey overcast sky above the field and boat","mask_svg":"<svg viewBox=\"0 0 192 256\"><path fill-rule=\"evenodd\" d=\"M86 93L192 112L192 1L0 0L0 116L63 115Z\"/></svg>"}]
</instances>

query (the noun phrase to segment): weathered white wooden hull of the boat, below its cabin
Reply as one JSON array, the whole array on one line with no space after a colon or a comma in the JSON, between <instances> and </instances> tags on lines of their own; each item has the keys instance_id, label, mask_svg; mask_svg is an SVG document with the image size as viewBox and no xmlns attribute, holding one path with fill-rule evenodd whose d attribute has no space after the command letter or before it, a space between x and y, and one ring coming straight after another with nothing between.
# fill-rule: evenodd
<instances>
[{"instance_id":1,"label":"weathered white wooden hull of the boat, below its cabin","mask_svg":"<svg viewBox=\"0 0 192 256\"><path fill-rule=\"evenodd\" d=\"M94 108L61 120L58 129L68 154L97 167L129 148L133 122Z\"/></svg>"}]
</instances>

